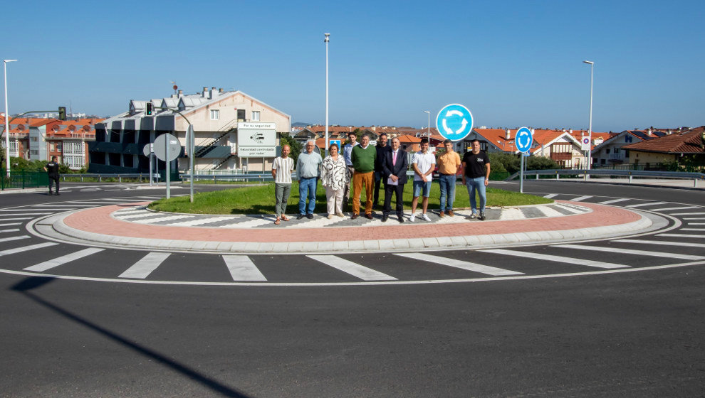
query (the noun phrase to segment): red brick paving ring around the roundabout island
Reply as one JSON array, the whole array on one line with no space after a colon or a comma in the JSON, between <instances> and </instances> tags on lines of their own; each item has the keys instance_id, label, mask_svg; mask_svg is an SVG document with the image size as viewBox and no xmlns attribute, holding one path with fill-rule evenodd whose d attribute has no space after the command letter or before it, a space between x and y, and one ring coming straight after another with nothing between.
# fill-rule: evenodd
<instances>
[{"instance_id":1,"label":"red brick paving ring around the roundabout island","mask_svg":"<svg viewBox=\"0 0 705 398\"><path fill-rule=\"evenodd\" d=\"M561 202L557 200L557 202ZM570 203L570 202L568 202ZM207 242L333 242L350 240L382 240L416 237L451 237L469 235L508 234L575 230L588 227L603 227L634 222L641 216L630 210L607 205L580 203L591 208L591 213L565 215L563 217L534 218L529 220L476 221L454 224L385 225L378 227L321 227L321 228L214 228L214 227L169 227L167 225L144 225L136 222L116 220L110 214L125 209L125 205L110 205L82 210L64 219L68 227L85 232L120 237L143 237L145 239L195 240Z\"/></svg>"}]
</instances>

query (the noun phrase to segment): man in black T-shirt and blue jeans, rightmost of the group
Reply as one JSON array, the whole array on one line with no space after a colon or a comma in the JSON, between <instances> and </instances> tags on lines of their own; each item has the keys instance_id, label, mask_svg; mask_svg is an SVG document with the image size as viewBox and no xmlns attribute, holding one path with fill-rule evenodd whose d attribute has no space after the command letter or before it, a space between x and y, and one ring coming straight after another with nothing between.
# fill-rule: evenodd
<instances>
[{"instance_id":1,"label":"man in black T-shirt and blue jeans, rightmost of the group","mask_svg":"<svg viewBox=\"0 0 705 398\"><path fill-rule=\"evenodd\" d=\"M482 221L485 219L485 203L487 196L485 187L489 184L490 164L489 157L484 151L480 151L480 141L472 141L472 151L466 152L463 156L463 183L468 188L470 196L470 208L472 214L470 218L477 217ZM480 197L480 214L477 214L477 203L475 191Z\"/></svg>"}]
</instances>

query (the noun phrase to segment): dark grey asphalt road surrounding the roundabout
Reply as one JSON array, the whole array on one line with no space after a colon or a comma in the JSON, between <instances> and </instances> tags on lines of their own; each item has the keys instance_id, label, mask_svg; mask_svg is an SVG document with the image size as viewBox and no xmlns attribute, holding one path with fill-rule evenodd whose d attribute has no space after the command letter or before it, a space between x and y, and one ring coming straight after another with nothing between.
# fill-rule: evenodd
<instances>
[{"instance_id":1,"label":"dark grey asphalt road surrounding the roundabout","mask_svg":"<svg viewBox=\"0 0 705 398\"><path fill-rule=\"evenodd\" d=\"M106 190L115 186L60 197L1 195L0 208L160 193ZM527 182L524 190L705 203L702 191L664 188L550 181ZM73 272L117 269L126 253L108 251ZM1 268L41 255L0 257ZM184 254L174 268L209 258ZM665 261L620 259L633 267ZM263 266L296 271L299 261L258 257ZM420 268L399 260L397 267ZM1 273L0 395L702 397L704 282L702 265L381 286L132 284Z\"/></svg>"}]
</instances>

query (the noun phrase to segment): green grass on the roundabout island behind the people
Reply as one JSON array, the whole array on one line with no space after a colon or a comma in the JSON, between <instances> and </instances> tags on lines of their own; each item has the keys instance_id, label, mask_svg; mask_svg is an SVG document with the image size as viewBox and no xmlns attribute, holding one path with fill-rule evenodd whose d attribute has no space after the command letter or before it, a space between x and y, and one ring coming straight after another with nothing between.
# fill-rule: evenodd
<instances>
[{"instance_id":1,"label":"green grass on the roundabout island behind the people","mask_svg":"<svg viewBox=\"0 0 705 398\"><path fill-rule=\"evenodd\" d=\"M490 183L491 184L491 183ZM429 198L429 210L439 208L440 188L434 183L431 188ZM380 189L380 205L385 197L384 189ZM362 193L362 208L364 208L365 193ZM420 198L419 198L420 199ZM392 197L392 210L394 210L395 198ZM411 208L412 183L404 185L404 209ZM469 208L470 200L464 185L456 185L454 208ZM553 203L552 199L540 196L528 195L526 193L512 192L498 188L487 188L488 206L519 206L538 205ZM266 185L249 186L227 190L217 190L212 192L196 193L194 203L189 202L189 196L179 196L175 198L161 199L150 204L150 209L172 213L193 213L193 214L273 214L274 213L274 183ZM421 200L419 200L419 209ZM343 206L343 211L349 211ZM315 213L325 213L325 188L320 183L316 189ZM298 213L298 183L294 181L291 185L291 195L289 196L286 213Z\"/></svg>"}]
</instances>

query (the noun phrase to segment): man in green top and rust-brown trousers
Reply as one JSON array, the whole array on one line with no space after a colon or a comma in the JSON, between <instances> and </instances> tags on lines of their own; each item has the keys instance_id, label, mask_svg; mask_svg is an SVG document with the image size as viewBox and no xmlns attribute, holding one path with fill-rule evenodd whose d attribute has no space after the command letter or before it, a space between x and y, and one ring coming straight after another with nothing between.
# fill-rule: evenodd
<instances>
[{"instance_id":1,"label":"man in green top and rust-brown trousers","mask_svg":"<svg viewBox=\"0 0 705 398\"><path fill-rule=\"evenodd\" d=\"M375 189L375 160L377 149L370 145L370 136L363 135L360 145L352 148L352 220L360 215L360 193L365 184L365 217L372 220L372 191Z\"/></svg>"}]
</instances>

